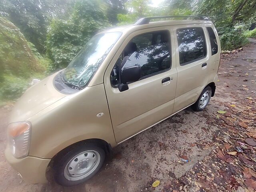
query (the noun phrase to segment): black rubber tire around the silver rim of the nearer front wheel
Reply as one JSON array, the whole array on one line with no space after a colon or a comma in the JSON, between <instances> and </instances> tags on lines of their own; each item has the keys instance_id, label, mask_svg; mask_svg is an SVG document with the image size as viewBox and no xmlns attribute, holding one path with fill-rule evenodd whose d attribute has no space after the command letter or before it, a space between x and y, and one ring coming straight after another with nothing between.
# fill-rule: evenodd
<instances>
[{"instance_id":1,"label":"black rubber tire around the silver rim of the nearer front wheel","mask_svg":"<svg viewBox=\"0 0 256 192\"><path fill-rule=\"evenodd\" d=\"M98 164L97 168L88 176L85 178L82 178L81 180L68 180L64 175L64 170L66 168L66 165L72 160L76 155L87 151L87 150L94 150L100 154L100 163ZM105 152L100 146L100 144L97 143L79 143L77 145L72 146L71 148L67 148L67 150L64 150L61 152L61 155L57 155L53 162L53 170L54 170L54 180L62 185L62 186L74 186L81 184L85 182L86 180L90 179L92 176L94 176L98 170L102 167L104 160L105 160Z\"/></svg>"}]
</instances>

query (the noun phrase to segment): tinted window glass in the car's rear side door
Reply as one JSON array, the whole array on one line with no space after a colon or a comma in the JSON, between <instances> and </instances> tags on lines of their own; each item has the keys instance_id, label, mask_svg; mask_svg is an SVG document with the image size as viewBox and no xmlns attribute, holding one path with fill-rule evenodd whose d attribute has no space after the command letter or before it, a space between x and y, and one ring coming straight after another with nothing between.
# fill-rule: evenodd
<instances>
[{"instance_id":1,"label":"tinted window glass in the car's rear side door","mask_svg":"<svg viewBox=\"0 0 256 192\"><path fill-rule=\"evenodd\" d=\"M177 29L180 65L186 65L206 56L204 30L201 27Z\"/></svg>"}]
</instances>

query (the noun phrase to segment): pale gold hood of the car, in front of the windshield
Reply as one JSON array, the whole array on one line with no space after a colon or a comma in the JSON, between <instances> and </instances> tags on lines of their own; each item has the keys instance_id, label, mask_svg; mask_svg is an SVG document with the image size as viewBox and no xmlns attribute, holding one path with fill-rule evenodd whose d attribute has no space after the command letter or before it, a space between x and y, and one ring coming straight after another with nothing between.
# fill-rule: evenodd
<instances>
[{"instance_id":1,"label":"pale gold hood of the car, in front of the windshield","mask_svg":"<svg viewBox=\"0 0 256 192\"><path fill-rule=\"evenodd\" d=\"M48 76L26 90L14 105L9 122L27 120L34 114L67 96L54 88L53 78L56 74Z\"/></svg>"}]
</instances>

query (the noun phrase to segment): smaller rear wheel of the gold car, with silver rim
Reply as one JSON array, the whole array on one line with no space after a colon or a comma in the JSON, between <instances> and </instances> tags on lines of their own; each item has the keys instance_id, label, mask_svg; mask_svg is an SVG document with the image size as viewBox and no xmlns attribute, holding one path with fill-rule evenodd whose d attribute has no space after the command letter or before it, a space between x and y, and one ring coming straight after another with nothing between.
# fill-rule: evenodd
<instances>
[{"instance_id":1,"label":"smaller rear wheel of the gold car, with silver rim","mask_svg":"<svg viewBox=\"0 0 256 192\"><path fill-rule=\"evenodd\" d=\"M207 104L209 103L211 95L212 88L207 86L200 94L198 100L192 105L192 109L194 111L202 111L204 108L206 108Z\"/></svg>"}]
</instances>

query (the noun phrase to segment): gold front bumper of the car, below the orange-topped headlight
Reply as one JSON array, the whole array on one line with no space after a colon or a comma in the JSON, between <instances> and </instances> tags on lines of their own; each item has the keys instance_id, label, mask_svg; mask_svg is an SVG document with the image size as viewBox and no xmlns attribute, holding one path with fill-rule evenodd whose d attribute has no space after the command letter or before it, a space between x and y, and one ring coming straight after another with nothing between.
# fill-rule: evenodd
<instances>
[{"instance_id":1,"label":"gold front bumper of the car, below the orange-topped headlight","mask_svg":"<svg viewBox=\"0 0 256 192\"><path fill-rule=\"evenodd\" d=\"M46 179L46 168L50 163L50 159L32 156L17 159L8 148L6 148L4 154L7 162L20 173L25 182L32 184L48 182Z\"/></svg>"}]
</instances>

